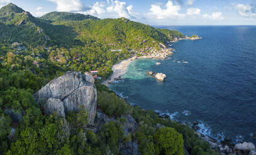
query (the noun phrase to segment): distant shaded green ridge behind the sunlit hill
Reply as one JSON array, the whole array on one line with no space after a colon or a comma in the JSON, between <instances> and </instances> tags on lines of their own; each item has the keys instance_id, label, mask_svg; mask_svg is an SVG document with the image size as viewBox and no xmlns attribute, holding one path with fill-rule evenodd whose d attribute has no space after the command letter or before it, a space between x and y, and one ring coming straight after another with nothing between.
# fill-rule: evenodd
<instances>
[{"instance_id":1,"label":"distant shaded green ridge behind the sunlit hill","mask_svg":"<svg viewBox=\"0 0 256 155\"><path fill-rule=\"evenodd\" d=\"M97 17L91 16L89 14L79 14L79 13L70 13L70 12L50 12L40 19L45 19L49 21L83 21L85 19L99 19Z\"/></svg>"}]
</instances>

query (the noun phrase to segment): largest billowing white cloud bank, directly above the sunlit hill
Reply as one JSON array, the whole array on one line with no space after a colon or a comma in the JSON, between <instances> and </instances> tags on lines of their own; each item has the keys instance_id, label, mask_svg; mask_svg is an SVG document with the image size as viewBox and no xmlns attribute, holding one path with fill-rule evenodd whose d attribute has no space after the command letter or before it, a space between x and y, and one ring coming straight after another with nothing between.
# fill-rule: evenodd
<instances>
[{"instance_id":1,"label":"largest billowing white cloud bank, directly above the sunlit hill","mask_svg":"<svg viewBox=\"0 0 256 155\"><path fill-rule=\"evenodd\" d=\"M81 11L82 14L91 14L92 16L97 16L99 18L105 17L126 17L128 19L134 18L138 15L133 11L133 6L127 6L126 2L121 1L107 1L107 2L96 2L87 11Z\"/></svg>"}]
</instances>

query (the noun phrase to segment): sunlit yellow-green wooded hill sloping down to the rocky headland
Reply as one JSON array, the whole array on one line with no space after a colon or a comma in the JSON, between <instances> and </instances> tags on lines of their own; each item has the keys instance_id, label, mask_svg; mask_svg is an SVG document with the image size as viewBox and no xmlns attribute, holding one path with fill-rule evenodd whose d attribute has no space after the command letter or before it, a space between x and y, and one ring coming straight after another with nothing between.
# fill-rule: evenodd
<instances>
[{"instance_id":1,"label":"sunlit yellow-green wooded hill sloping down to the rocky headland","mask_svg":"<svg viewBox=\"0 0 256 155\"><path fill-rule=\"evenodd\" d=\"M95 40L103 44L116 44L121 47L140 49L157 46L157 42L166 44L174 37L183 37L181 32L160 29L130 21L129 19L101 19L72 22L53 22L55 25L74 27L82 42ZM145 42L141 44L140 42Z\"/></svg>"}]
</instances>

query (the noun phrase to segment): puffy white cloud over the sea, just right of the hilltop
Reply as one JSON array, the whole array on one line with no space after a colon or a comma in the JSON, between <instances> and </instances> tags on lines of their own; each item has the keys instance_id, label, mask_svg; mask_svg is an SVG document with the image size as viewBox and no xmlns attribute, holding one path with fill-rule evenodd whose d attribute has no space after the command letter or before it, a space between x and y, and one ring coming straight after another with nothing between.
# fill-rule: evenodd
<instances>
[{"instance_id":1,"label":"puffy white cloud over the sea, just right of the hilltop","mask_svg":"<svg viewBox=\"0 0 256 155\"><path fill-rule=\"evenodd\" d=\"M186 14L180 14L181 6L174 5L172 1L168 1L165 5L166 9L162 9L161 6L151 5L149 16L155 16L157 19L177 19L186 16Z\"/></svg>"}]
</instances>

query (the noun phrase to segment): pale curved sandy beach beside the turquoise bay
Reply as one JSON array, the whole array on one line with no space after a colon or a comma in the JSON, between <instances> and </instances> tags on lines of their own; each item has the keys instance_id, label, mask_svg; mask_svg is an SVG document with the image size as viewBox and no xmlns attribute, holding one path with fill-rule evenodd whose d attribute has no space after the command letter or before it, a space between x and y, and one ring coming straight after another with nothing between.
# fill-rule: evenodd
<instances>
[{"instance_id":1,"label":"pale curved sandy beach beside the turquoise bay","mask_svg":"<svg viewBox=\"0 0 256 155\"><path fill-rule=\"evenodd\" d=\"M101 84L104 84L105 86L109 87L109 83L112 83L113 81L115 81L114 80L115 78L118 78L119 76L122 76L123 74L126 73L127 67L132 61L134 61L135 59L149 59L149 58L152 58L152 56L140 56L140 57L133 56L132 58L125 59L118 64L114 64L112 66L113 74L108 79L103 81L103 83Z\"/></svg>"}]
</instances>

